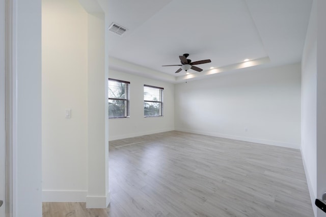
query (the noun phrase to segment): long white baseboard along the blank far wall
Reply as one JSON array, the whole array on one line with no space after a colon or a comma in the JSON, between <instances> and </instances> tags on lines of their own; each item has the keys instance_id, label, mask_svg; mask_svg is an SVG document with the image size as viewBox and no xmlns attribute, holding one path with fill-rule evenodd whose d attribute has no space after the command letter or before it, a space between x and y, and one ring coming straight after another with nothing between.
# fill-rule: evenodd
<instances>
[{"instance_id":1,"label":"long white baseboard along the blank far wall","mask_svg":"<svg viewBox=\"0 0 326 217\"><path fill-rule=\"evenodd\" d=\"M272 141L272 140L266 140L266 139L257 139L257 138L251 138L251 137L234 136L234 135L227 135L227 134L220 134L220 133L213 133L213 132L180 129L180 128L177 128L175 130L187 132L187 133L196 133L196 134L201 134L201 135L206 135L206 136L215 136L215 137L221 137L221 138L226 138L226 139L234 139L234 140L254 142L254 143L259 143L259 144L275 145L275 146L286 147L286 148L300 149L300 144L291 144L291 143Z\"/></svg>"}]
</instances>

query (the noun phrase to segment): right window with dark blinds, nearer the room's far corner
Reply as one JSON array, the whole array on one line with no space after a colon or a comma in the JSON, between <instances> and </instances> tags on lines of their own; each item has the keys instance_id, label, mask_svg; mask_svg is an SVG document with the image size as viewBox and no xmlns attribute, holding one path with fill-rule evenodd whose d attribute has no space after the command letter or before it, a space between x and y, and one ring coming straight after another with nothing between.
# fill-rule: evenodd
<instances>
[{"instance_id":1,"label":"right window with dark blinds, nearer the room's far corner","mask_svg":"<svg viewBox=\"0 0 326 217\"><path fill-rule=\"evenodd\" d=\"M162 87L144 85L144 116L163 116L163 90Z\"/></svg>"}]
</instances>

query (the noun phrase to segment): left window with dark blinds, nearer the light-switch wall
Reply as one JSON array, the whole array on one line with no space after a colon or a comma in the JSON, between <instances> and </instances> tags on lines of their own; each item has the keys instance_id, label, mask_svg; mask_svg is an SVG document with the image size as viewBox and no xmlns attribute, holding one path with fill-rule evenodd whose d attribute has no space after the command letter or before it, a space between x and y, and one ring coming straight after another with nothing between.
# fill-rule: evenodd
<instances>
[{"instance_id":1,"label":"left window with dark blinds, nearer the light-switch wall","mask_svg":"<svg viewBox=\"0 0 326 217\"><path fill-rule=\"evenodd\" d=\"M108 79L108 118L129 117L129 84Z\"/></svg>"}]
</instances>

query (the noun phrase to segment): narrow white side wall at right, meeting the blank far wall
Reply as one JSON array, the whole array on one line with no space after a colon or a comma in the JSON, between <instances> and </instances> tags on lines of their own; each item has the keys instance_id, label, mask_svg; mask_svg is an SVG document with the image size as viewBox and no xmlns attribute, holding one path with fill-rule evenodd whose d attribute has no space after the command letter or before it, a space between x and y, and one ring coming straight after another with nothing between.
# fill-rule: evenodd
<instances>
[{"instance_id":1,"label":"narrow white side wall at right, meeting the blank far wall","mask_svg":"<svg viewBox=\"0 0 326 217\"><path fill-rule=\"evenodd\" d=\"M301 152L307 183L314 204L317 191L317 5L314 1L302 58ZM316 214L316 206L313 205Z\"/></svg>"}]
</instances>

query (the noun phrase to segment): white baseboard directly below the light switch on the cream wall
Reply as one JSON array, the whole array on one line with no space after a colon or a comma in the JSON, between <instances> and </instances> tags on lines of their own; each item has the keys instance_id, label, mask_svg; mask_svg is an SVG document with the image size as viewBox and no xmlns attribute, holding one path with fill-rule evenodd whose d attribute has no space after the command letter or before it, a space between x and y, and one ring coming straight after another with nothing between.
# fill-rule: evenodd
<instances>
[{"instance_id":1,"label":"white baseboard directly below the light switch on the cream wall","mask_svg":"<svg viewBox=\"0 0 326 217\"><path fill-rule=\"evenodd\" d=\"M86 202L87 191L43 190L43 202Z\"/></svg>"}]
</instances>

